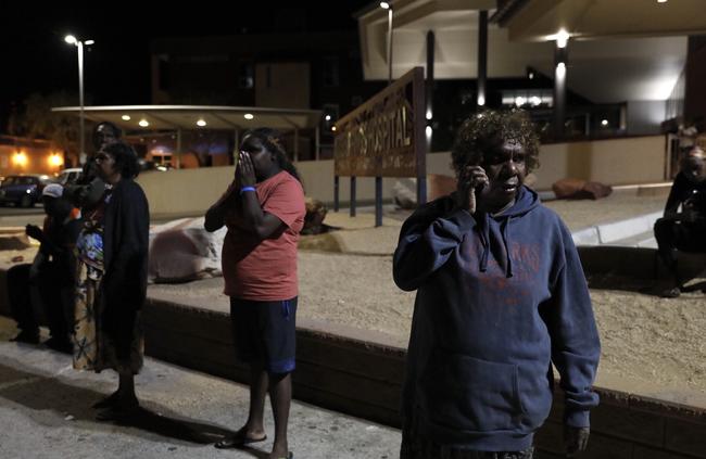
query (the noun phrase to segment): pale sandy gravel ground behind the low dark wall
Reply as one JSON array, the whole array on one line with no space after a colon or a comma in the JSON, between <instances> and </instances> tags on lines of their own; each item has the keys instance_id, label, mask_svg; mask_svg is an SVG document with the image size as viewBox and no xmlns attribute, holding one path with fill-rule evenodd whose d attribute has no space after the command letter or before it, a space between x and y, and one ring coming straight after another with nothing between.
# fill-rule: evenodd
<instances>
[{"instance_id":1,"label":"pale sandy gravel ground behind the low dark wall","mask_svg":"<svg viewBox=\"0 0 706 459\"><path fill-rule=\"evenodd\" d=\"M616 194L549 206L576 230L657 212L664 196ZM370 214L351 219L329 213L326 222L342 230L302 240L299 317L374 330L406 346L415 294L394 286L391 256L406 215L387 209L383 226L373 228ZM3 252L0 263L8 266L11 253ZM151 285L150 294L227 310L222 285L222 279ZM647 280L602 278L592 279L591 285L603 345L598 384L644 385L655 395L686 391L706 396L706 295L698 290L663 299Z\"/></svg>"}]
</instances>

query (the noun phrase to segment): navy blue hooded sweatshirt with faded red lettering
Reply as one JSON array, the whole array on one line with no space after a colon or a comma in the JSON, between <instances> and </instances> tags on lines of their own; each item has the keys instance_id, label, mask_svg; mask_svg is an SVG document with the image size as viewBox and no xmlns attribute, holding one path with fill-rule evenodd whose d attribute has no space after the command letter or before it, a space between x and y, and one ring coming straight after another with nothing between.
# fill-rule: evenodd
<instances>
[{"instance_id":1,"label":"navy blue hooded sweatshirt with faded red lettering","mask_svg":"<svg viewBox=\"0 0 706 459\"><path fill-rule=\"evenodd\" d=\"M589 426L601 354L591 298L571 234L537 193L520 187L497 216L452 196L426 204L402 227L393 276L417 290L405 424L442 445L524 450L550 412L553 362L565 423Z\"/></svg>"}]
</instances>

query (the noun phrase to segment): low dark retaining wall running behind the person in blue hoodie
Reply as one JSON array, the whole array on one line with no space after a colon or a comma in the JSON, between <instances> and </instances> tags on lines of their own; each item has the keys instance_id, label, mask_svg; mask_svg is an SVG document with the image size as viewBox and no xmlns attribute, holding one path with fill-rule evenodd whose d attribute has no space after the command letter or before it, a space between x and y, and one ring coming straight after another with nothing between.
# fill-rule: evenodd
<instances>
[{"instance_id":1,"label":"low dark retaining wall running behind the person in blue hoodie","mask_svg":"<svg viewBox=\"0 0 706 459\"><path fill-rule=\"evenodd\" d=\"M236 360L226 313L149 298L143 318L148 355L248 382L248 369ZM306 319L298 319L297 326L294 398L400 428L405 349L369 331ZM608 387L594 390L601 405L592 410L591 439L582 458L706 459L703 408ZM563 398L557 391L550 418L535 436L545 459L566 457Z\"/></svg>"}]
</instances>

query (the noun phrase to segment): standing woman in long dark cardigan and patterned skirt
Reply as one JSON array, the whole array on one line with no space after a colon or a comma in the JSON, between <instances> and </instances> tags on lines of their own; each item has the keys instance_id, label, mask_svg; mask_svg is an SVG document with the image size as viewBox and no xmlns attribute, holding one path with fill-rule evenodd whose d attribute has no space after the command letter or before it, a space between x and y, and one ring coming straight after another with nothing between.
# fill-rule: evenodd
<instances>
[{"instance_id":1,"label":"standing woman in long dark cardigan and patterned skirt","mask_svg":"<svg viewBox=\"0 0 706 459\"><path fill-rule=\"evenodd\" d=\"M133 415L139 404L135 374L142 367L140 311L147 295L150 214L144 192L133 179L137 154L123 142L105 144L96 155L103 199L85 209L77 242L74 368L119 375L117 391L94 407L99 420Z\"/></svg>"}]
</instances>

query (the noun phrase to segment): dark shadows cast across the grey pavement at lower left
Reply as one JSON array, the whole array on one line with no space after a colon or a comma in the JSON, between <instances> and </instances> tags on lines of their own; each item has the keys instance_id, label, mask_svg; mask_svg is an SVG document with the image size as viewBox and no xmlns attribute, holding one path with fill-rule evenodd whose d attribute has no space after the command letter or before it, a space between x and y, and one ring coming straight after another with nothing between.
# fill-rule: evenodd
<instances>
[{"instance_id":1,"label":"dark shadows cast across the grey pavement at lower left","mask_svg":"<svg viewBox=\"0 0 706 459\"><path fill-rule=\"evenodd\" d=\"M97 429L103 424L94 421L98 411L91 408L93 403L104 397L102 393L68 385L55 378L17 370L1 364L0 375L2 375L0 383L3 385L0 388L0 398L37 411L37 413L29 413L37 423L53 423L46 415L39 413L39 411L51 410L58 415L59 419L71 413L76 420L94 422ZM140 407L134 416L121 419L116 423L136 428L143 433L199 445L215 443L235 433L216 424L180 417L150 401L143 401L143 404L146 406ZM149 435L141 436L150 437ZM254 456L266 457L266 455L260 456L260 452L254 451Z\"/></svg>"}]
</instances>

